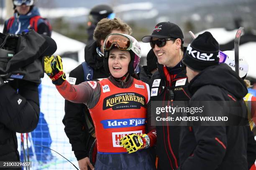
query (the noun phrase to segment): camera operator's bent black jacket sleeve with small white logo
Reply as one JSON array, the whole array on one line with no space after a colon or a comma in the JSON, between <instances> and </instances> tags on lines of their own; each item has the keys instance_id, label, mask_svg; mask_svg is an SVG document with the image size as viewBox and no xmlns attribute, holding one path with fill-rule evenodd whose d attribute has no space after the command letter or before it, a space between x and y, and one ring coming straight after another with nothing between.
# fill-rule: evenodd
<instances>
[{"instance_id":1,"label":"camera operator's bent black jacket sleeve with small white logo","mask_svg":"<svg viewBox=\"0 0 256 170\"><path fill-rule=\"evenodd\" d=\"M18 133L33 131L39 119L38 85L20 81L18 92L9 84L0 87L0 123Z\"/></svg>"}]
</instances>

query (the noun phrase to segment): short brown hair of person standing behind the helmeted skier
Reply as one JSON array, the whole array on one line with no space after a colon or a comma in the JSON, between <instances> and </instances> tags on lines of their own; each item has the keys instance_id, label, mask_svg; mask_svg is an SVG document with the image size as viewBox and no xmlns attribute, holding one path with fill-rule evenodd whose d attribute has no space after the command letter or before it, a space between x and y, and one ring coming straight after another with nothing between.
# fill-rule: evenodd
<instances>
[{"instance_id":1,"label":"short brown hair of person standing behind the helmeted skier","mask_svg":"<svg viewBox=\"0 0 256 170\"><path fill-rule=\"evenodd\" d=\"M108 18L103 18L97 24L93 38L97 41L97 44L100 46L100 40L105 40L105 38L111 33L112 30L120 30L125 32L125 34L131 35L131 27L118 18L110 20Z\"/></svg>"}]
</instances>

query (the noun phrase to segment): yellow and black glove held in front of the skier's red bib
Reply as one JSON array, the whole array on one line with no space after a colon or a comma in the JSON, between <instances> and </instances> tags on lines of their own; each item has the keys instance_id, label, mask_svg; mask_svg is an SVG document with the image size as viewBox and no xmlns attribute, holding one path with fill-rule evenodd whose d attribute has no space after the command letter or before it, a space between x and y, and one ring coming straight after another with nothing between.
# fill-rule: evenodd
<instances>
[{"instance_id":1,"label":"yellow and black glove held in front of the skier's red bib","mask_svg":"<svg viewBox=\"0 0 256 170\"><path fill-rule=\"evenodd\" d=\"M127 153L133 153L137 150L148 148L150 144L150 139L146 134L129 134L120 139L119 145L123 146L127 150Z\"/></svg>"}]
</instances>

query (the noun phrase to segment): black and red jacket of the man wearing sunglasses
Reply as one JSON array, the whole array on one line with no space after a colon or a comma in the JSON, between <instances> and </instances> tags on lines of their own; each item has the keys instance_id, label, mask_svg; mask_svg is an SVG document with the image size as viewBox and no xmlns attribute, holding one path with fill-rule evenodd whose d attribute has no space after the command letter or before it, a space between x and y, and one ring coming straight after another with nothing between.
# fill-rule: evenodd
<instances>
[{"instance_id":1,"label":"black and red jacket of the man wearing sunglasses","mask_svg":"<svg viewBox=\"0 0 256 170\"><path fill-rule=\"evenodd\" d=\"M157 79L161 79L159 85L154 82ZM177 82L178 80L182 80L183 83ZM151 93L152 89L158 88L157 95L152 96L151 94L151 102L162 101L163 106L166 106L169 105L172 100L187 101L189 100L187 85L186 69L182 63L179 62L172 68L159 64L158 71L152 75L149 84ZM163 113L160 117L167 117L167 115L167 113ZM175 170L179 167L180 127L171 126L168 123L169 122L166 121L163 122L162 126L156 126L156 153L159 158L157 163L158 170Z\"/></svg>"}]
</instances>

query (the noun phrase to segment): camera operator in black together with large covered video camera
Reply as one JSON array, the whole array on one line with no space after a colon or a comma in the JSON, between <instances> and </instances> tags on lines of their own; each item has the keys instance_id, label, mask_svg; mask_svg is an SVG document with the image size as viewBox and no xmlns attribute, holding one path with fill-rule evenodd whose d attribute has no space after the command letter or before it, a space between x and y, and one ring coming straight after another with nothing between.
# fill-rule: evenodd
<instances>
[{"instance_id":1,"label":"camera operator in black together with large covered video camera","mask_svg":"<svg viewBox=\"0 0 256 170\"><path fill-rule=\"evenodd\" d=\"M37 126L38 85L44 76L41 59L56 48L53 39L34 30L0 33L0 161L20 161L16 133Z\"/></svg>"}]
</instances>

